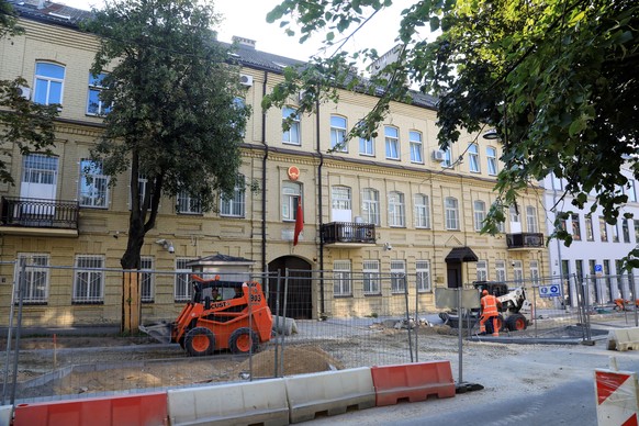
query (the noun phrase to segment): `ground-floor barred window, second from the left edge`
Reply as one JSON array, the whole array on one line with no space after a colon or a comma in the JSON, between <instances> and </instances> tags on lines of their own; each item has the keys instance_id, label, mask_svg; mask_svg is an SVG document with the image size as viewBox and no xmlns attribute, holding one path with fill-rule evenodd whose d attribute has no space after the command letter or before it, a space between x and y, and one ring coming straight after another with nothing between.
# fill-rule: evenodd
<instances>
[{"instance_id":1,"label":"ground-floor barred window, second from the left edge","mask_svg":"<svg viewBox=\"0 0 639 426\"><path fill-rule=\"evenodd\" d=\"M74 303L104 302L104 258L77 256L74 274Z\"/></svg>"}]
</instances>

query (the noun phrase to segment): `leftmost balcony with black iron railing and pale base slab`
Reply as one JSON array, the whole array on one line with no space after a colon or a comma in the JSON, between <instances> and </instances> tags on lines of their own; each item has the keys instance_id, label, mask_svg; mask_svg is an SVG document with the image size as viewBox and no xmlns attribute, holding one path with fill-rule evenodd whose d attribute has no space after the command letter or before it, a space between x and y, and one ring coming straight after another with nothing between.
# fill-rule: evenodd
<instances>
[{"instance_id":1,"label":"leftmost balcony with black iron railing and pale base slab","mask_svg":"<svg viewBox=\"0 0 639 426\"><path fill-rule=\"evenodd\" d=\"M0 232L13 235L78 236L77 201L2 197Z\"/></svg>"}]
</instances>

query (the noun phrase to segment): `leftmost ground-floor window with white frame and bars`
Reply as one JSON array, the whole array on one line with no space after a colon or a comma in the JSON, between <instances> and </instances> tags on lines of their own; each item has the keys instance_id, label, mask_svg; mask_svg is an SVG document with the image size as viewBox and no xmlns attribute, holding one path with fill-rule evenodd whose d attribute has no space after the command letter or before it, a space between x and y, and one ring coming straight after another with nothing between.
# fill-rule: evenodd
<instances>
[{"instance_id":1,"label":"leftmost ground-floor window with white frame and bars","mask_svg":"<svg viewBox=\"0 0 639 426\"><path fill-rule=\"evenodd\" d=\"M43 304L48 300L49 283L49 256L36 253L18 254L15 264L15 300L19 300L20 281L22 279L22 266L24 265L24 283L22 292L22 302L31 304Z\"/></svg>"}]
</instances>

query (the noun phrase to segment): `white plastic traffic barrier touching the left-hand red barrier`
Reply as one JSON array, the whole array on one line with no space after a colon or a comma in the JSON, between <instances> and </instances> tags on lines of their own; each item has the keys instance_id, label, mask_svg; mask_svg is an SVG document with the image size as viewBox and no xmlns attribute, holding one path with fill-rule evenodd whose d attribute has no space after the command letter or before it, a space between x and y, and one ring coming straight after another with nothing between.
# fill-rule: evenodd
<instances>
[{"instance_id":1,"label":"white plastic traffic barrier touching the left-hand red barrier","mask_svg":"<svg viewBox=\"0 0 639 426\"><path fill-rule=\"evenodd\" d=\"M282 379L170 390L168 413L171 426L289 424Z\"/></svg>"}]
</instances>

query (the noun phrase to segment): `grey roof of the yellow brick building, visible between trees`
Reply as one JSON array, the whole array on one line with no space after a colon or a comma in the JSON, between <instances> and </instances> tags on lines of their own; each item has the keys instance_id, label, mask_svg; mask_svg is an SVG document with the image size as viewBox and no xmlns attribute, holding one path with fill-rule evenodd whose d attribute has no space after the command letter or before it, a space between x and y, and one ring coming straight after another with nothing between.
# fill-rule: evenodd
<instances>
[{"instance_id":1,"label":"grey roof of the yellow brick building, visible between trees","mask_svg":"<svg viewBox=\"0 0 639 426\"><path fill-rule=\"evenodd\" d=\"M54 3L52 1L8 1L22 18L51 23L53 25L78 29L81 21L89 20L93 15L90 11L70 8L68 5ZM42 7L40 7L40 4L42 4ZM220 43L227 47L232 46L229 43ZM284 68L289 66L303 66L306 64L299 59L261 52L256 49L255 45L250 46L243 43L234 45L232 56L234 60L244 67L274 74L283 74ZM437 98L413 90L411 91L411 96L413 97L412 103L414 105L431 110L437 109Z\"/></svg>"}]
</instances>

